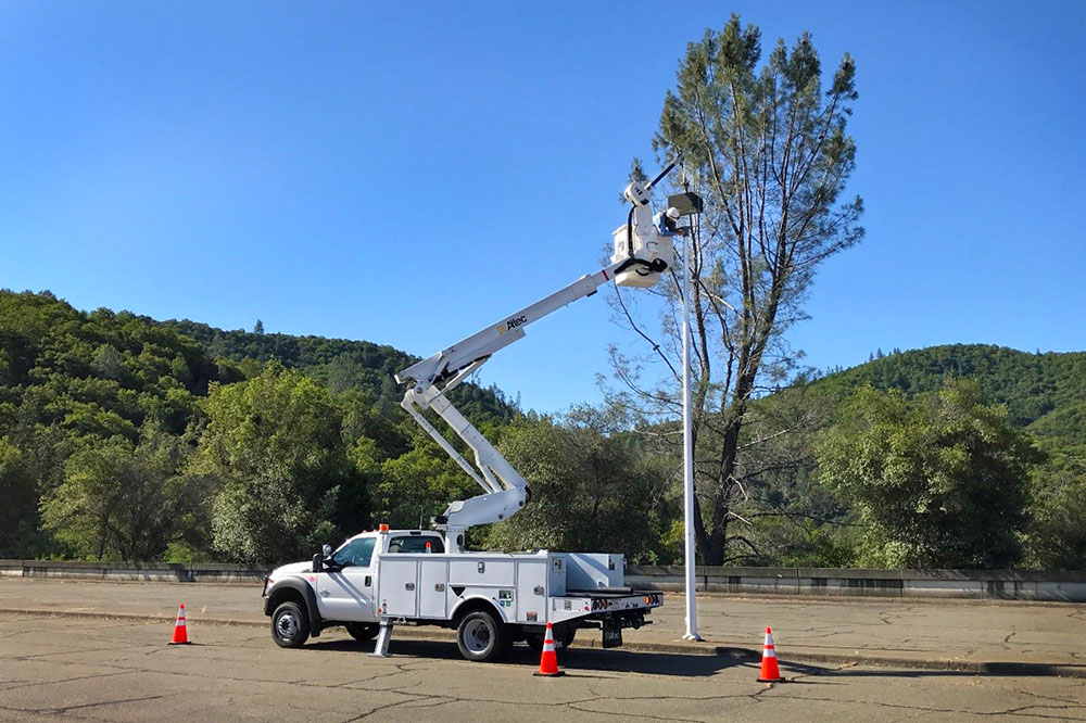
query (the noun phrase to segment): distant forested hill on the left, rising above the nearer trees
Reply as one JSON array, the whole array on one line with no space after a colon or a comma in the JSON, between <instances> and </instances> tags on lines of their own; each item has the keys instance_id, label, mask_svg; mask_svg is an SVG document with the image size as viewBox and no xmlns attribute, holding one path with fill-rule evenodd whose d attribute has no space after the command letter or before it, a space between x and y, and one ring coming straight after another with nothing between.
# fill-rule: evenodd
<instances>
[{"instance_id":1,"label":"distant forested hill on the left, rising above the nearer trees","mask_svg":"<svg viewBox=\"0 0 1086 723\"><path fill-rule=\"evenodd\" d=\"M49 405L70 417L87 416L91 427L131 429L128 423L141 423L150 406L182 423L191 408L168 408L172 399L181 403L171 389L202 396L210 382L253 377L273 358L333 392L364 391L386 408L402 395L393 375L417 360L370 342L225 331L105 308L81 312L49 292L0 290L0 404L42 386ZM495 388L465 384L454 398L477 421L507 421L514 411Z\"/></svg>"}]
</instances>

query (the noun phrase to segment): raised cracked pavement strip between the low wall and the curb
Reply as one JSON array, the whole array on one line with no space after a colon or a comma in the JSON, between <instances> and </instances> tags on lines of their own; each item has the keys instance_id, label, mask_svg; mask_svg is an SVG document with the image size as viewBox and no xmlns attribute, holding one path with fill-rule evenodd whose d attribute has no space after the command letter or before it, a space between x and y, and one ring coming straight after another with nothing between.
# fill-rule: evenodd
<instances>
[{"instance_id":1,"label":"raised cracked pavement strip between the low wall and the curb","mask_svg":"<svg viewBox=\"0 0 1086 723\"><path fill-rule=\"evenodd\" d=\"M0 611L168 621L179 602L198 638L202 623L267 625L260 585L0 579ZM682 595L667 595L652 618L624 631L627 649L749 658L771 625L782 660L1086 677L1086 605L706 595L698 596L702 644L681 639ZM397 627L393 650L402 639L450 635ZM582 631L576 645L598 646L598 632Z\"/></svg>"}]
</instances>

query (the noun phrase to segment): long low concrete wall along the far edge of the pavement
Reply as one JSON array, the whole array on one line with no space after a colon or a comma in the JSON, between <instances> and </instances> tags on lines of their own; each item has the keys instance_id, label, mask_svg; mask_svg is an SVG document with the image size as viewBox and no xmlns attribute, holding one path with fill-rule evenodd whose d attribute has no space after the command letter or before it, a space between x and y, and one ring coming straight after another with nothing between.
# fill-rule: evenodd
<instances>
[{"instance_id":1,"label":"long low concrete wall along the far edge of the pavement","mask_svg":"<svg viewBox=\"0 0 1086 723\"><path fill-rule=\"evenodd\" d=\"M125 565L65 560L0 560L0 578L141 582L255 583L265 570L220 562ZM681 592L681 567L628 566L634 587ZM1086 571L851 570L699 566L696 589L731 595L945 597L1086 602Z\"/></svg>"}]
</instances>

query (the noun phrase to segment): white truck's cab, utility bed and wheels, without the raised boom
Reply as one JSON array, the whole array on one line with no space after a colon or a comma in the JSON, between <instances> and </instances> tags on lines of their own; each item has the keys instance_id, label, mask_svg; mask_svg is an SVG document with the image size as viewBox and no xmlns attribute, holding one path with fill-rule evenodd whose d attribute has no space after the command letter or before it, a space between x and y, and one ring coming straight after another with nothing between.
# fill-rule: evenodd
<instances>
[{"instance_id":1,"label":"white truck's cab, utility bed and wheels, without the raised boom","mask_svg":"<svg viewBox=\"0 0 1086 723\"><path fill-rule=\"evenodd\" d=\"M432 531L364 532L318 559L268 576L264 611L283 647L332 625L368 640L382 622L455 627L469 660L497 660L516 640L541 648L547 622L557 645L591 626L614 647L623 627L645 624L662 602L659 593L622 586L621 555L445 553Z\"/></svg>"}]
</instances>

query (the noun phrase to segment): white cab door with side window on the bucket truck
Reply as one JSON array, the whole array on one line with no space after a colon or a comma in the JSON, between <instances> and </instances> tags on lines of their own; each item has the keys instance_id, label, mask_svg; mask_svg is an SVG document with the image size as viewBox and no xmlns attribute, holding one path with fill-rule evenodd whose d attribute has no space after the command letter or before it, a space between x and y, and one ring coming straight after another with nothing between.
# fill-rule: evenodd
<instances>
[{"instance_id":1,"label":"white cab door with side window on the bucket truck","mask_svg":"<svg viewBox=\"0 0 1086 723\"><path fill-rule=\"evenodd\" d=\"M325 620L375 622L374 546L376 537L357 537L332 555L333 571L317 574L317 607Z\"/></svg>"}]
</instances>

